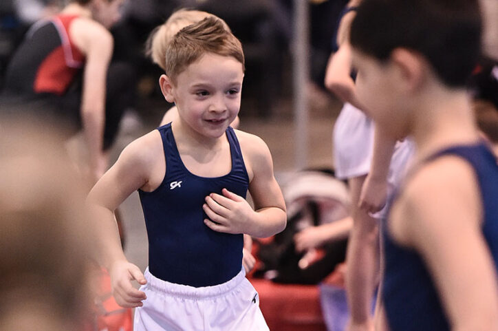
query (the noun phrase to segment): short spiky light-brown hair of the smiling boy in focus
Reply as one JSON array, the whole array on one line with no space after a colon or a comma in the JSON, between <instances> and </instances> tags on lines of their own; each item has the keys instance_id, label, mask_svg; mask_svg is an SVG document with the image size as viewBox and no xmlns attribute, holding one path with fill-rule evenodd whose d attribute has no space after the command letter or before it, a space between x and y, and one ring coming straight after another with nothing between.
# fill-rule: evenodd
<instances>
[{"instance_id":1,"label":"short spiky light-brown hair of the smiling boy in focus","mask_svg":"<svg viewBox=\"0 0 498 331\"><path fill-rule=\"evenodd\" d=\"M166 49L166 74L176 83L177 76L206 53L232 56L245 70L239 39L219 19L206 17L175 34Z\"/></svg>"}]
</instances>

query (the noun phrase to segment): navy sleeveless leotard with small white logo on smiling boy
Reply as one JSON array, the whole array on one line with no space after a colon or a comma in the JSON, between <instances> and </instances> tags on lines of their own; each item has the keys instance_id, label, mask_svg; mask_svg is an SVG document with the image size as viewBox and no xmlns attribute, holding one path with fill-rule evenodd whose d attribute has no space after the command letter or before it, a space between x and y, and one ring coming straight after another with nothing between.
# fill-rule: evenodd
<instances>
[{"instance_id":1,"label":"navy sleeveless leotard with small white logo on smiling boy","mask_svg":"<svg viewBox=\"0 0 498 331\"><path fill-rule=\"evenodd\" d=\"M230 173L206 178L186 169L178 152L171 123L158 128L166 158L164 180L152 192L139 190L149 237L149 271L174 284L214 286L232 279L242 268L243 235L219 233L204 224L202 205L210 193L228 189L246 197L249 177L231 127Z\"/></svg>"}]
</instances>

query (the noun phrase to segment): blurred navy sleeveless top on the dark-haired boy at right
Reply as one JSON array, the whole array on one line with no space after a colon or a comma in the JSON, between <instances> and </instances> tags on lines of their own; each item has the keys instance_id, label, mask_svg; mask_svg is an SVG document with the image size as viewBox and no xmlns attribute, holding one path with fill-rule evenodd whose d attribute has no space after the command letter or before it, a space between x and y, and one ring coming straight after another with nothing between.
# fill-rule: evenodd
<instances>
[{"instance_id":1,"label":"blurred navy sleeveless top on the dark-haired boy at right","mask_svg":"<svg viewBox=\"0 0 498 331\"><path fill-rule=\"evenodd\" d=\"M427 158L424 163L447 155L463 158L475 171L481 192L482 233L498 270L497 160L484 143L478 143L444 149ZM385 244L383 299L391 331L450 330L431 273L422 257L415 250L394 242L387 224L383 226L382 233Z\"/></svg>"}]
</instances>

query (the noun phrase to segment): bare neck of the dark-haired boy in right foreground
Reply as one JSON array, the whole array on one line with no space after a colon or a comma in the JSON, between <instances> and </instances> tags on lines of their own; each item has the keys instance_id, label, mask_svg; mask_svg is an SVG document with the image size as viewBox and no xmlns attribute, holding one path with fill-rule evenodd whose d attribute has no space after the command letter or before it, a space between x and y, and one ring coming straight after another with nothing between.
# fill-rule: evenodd
<instances>
[{"instance_id":1,"label":"bare neck of the dark-haired boy in right foreground","mask_svg":"<svg viewBox=\"0 0 498 331\"><path fill-rule=\"evenodd\" d=\"M419 159L452 145L477 142L479 134L466 91L435 89L428 94L414 110L412 132Z\"/></svg>"}]
</instances>

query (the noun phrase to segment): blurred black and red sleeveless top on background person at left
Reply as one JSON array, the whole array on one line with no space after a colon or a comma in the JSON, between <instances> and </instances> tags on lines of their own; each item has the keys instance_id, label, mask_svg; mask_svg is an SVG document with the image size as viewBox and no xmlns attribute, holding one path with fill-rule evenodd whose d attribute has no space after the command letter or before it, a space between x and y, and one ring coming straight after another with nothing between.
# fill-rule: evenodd
<instances>
[{"instance_id":1,"label":"blurred black and red sleeveless top on background person at left","mask_svg":"<svg viewBox=\"0 0 498 331\"><path fill-rule=\"evenodd\" d=\"M67 92L85 61L69 36L77 17L61 14L32 25L7 68L8 93L34 97Z\"/></svg>"}]
</instances>

